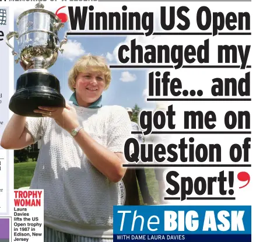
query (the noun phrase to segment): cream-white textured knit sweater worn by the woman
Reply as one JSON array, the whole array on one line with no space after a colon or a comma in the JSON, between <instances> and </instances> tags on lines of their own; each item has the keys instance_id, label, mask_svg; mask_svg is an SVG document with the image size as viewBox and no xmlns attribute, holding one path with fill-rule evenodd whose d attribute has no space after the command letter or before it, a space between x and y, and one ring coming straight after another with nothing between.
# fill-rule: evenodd
<instances>
[{"instance_id":1,"label":"cream-white textured knit sweater worn by the woman","mask_svg":"<svg viewBox=\"0 0 256 242\"><path fill-rule=\"evenodd\" d=\"M131 136L125 108L75 107L80 125L100 145L123 152ZM30 189L44 189L45 225L87 237L113 237L113 205L120 205L120 188L87 159L72 136L52 118L27 118L26 128L41 140Z\"/></svg>"}]
</instances>

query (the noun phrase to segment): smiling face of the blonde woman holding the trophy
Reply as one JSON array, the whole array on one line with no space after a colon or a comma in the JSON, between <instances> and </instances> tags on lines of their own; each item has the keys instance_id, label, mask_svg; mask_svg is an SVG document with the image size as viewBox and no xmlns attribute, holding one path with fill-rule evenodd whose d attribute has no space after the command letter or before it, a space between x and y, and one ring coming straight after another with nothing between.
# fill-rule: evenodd
<instances>
[{"instance_id":1,"label":"smiling face of the blonde woman holding the trophy","mask_svg":"<svg viewBox=\"0 0 256 242\"><path fill-rule=\"evenodd\" d=\"M106 86L104 74L86 69L80 72L76 78L76 99L80 106L89 106L99 99Z\"/></svg>"}]
</instances>

